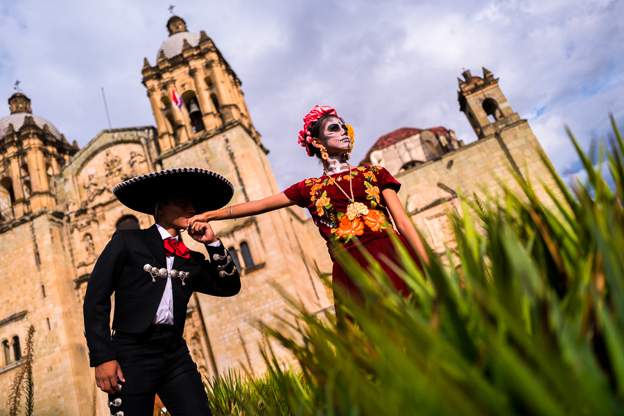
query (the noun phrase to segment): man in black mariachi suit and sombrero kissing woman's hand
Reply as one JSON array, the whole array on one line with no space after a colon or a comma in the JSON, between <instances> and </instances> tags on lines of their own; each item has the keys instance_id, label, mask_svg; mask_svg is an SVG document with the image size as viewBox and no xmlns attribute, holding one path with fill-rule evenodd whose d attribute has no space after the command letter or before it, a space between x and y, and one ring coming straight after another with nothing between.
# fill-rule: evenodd
<instances>
[{"instance_id":1,"label":"man in black mariachi suit and sombrero kissing woman's hand","mask_svg":"<svg viewBox=\"0 0 624 416\"><path fill-rule=\"evenodd\" d=\"M234 187L214 172L168 169L113 188L123 205L153 214L148 229L117 230L89 276L85 336L110 413L151 416L157 393L172 415L211 415L197 366L182 333L193 291L234 296L241 289L232 257L207 223L189 234L209 259L180 241L196 211L223 207ZM114 293L111 336L110 297Z\"/></svg>"}]
</instances>

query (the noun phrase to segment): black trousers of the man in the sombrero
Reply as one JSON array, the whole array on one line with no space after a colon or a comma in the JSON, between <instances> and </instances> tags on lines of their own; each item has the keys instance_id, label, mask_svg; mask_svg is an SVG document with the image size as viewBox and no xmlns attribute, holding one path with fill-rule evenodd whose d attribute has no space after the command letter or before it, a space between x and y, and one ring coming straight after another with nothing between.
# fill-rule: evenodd
<instances>
[{"instance_id":1,"label":"black trousers of the man in the sombrero","mask_svg":"<svg viewBox=\"0 0 624 416\"><path fill-rule=\"evenodd\" d=\"M112 343L125 383L121 392L108 396L111 415L152 416L155 394L172 416L212 415L182 336L173 331L116 332ZM115 399L121 399L119 406Z\"/></svg>"}]
</instances>

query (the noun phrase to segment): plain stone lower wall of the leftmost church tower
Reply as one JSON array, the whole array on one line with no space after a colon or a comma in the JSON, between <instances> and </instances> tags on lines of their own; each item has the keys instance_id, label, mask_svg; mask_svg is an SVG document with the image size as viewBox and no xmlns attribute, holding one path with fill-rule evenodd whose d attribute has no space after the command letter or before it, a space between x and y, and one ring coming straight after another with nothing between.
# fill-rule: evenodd
<instances>
[{"instance_id":1,"label":"plain stone lower wall of the leftmost church tower","mask_svg":"<svg viewBox=\"0 0 624 416\"><path fill-rule=\"evenodd\" d=\"M42 414L86 415L91 381L78 302L67 279L71 268L64 254L61 220L43 212L0 234L0 263L15 266L3 267L0 273L2 286L11 294L3 299L0 319L26 311L24 319L0 327L0 337L12 337L5 331L17 333L23 351L27 327L35 325L37 409ZM16 367L0 373L0 391L9 391L18 371ZM5 402L0 404L4 406Z\"/></svg>"}]
</instances>

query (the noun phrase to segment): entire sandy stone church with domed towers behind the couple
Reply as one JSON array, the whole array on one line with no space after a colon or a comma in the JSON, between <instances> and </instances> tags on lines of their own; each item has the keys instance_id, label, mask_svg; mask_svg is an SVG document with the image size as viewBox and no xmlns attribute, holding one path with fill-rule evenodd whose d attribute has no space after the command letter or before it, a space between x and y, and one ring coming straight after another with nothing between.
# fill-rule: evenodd
<instances>
[{"instance_id":1,"label":"entire sandy stone church with domed towers behind the couple","mask_svg":"<svg viewBox=\"0 0 624 416\"><path fill-rule=\"evenodd\" d=\"M196 166L234 184L232 204L278 193L241 82L212 40L187 31L173 16L155 65L144 61L143 83L156 127L103 130L83 148L36 116L21 93L0 119L0 392L6 397L21 365L29 324L35 324L35 394L40 415L108 415L95 390L83 336L82 302L98 254L116 229L149 227L153 218L121 205L114 184L162 168ZM175 90L184 105L172 103ZM373 146L363 163L388 168L403 183L399 198L437 251L451 242L444 209L458 191L496 187L511 166L544 175L539 144L512 112L497 80L465 73L460 108L479 140L464 146L452 130L399 129ZM494 188L492 188L494 189ZM201 190L209 192L209 189ZM286 317L285 293L311 311L331 308L320 272L331 273L324 241L298 208L214 223L236 254L243 291L236 297L196 294L184 337L202 374L228 368L261 372L258 320ZM182 236L184 239L184 235ZM185 243L204 251L195 241ZM305 255L303 255L305 253ZM114 297L112 299L114 305ZM276 348L279 356L286 353ZM0 416L8 412L0 403Z\"/></svg>"}]
</instances>

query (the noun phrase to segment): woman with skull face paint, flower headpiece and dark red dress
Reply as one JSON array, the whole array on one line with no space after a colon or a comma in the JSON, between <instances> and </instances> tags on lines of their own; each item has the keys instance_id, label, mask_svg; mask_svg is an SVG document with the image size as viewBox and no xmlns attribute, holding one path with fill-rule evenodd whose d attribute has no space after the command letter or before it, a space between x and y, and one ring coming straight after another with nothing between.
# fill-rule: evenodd
<instances>
[{"instance_id":1,"label":"woman with skull face paint, flower headpiece and dark red dress","mask_svg":"<svg viewBox=\"0 0 624 416\"><path fill-rule=\"evenodd\" d=\"M340 246L361 267L366 267L365 257L356 248L357 241L388 273L395 288L407 294L404 281L383 261L397 257L390 239L390 234L396 234L390 216L399 231L399 240L417 264L419 259L427 261L424 246L397 196L401 184L381 166L356 167L347 162L353 139L351 126L345 125L336 110L317 105L304 117L299 144L306 148L309 156L321 160L323 174L320 177L303 180L283 193L261 200L207 211L191 218L190 223L241 218L298 205L310 211L321 236L327 241L333 260L334 287L341 286L352 298L359 297L356 286L336 261L336 249ZM191 226L194 227L196 225Z\"/></svg>"}]
</instances>

